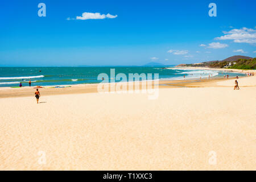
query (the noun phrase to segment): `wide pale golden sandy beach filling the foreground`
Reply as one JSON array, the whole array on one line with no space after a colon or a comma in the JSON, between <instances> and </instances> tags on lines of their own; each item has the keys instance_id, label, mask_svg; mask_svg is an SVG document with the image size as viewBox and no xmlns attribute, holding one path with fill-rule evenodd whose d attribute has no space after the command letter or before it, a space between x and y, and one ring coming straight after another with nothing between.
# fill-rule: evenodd
<instances>
[{"instance_id":1,"label":"wide pale golden sandy beach filling the foreground","mask_svg":"<svg viewBox=\"0 0 256 182\"><path fill-rule=\"evenodd\" d=\"M155 100L86 84L39 89L40 104L35 89L0 88L0 170L256 169L256 76L240 90L233 78L159 84Z\"/></svg>"}]
</instances>

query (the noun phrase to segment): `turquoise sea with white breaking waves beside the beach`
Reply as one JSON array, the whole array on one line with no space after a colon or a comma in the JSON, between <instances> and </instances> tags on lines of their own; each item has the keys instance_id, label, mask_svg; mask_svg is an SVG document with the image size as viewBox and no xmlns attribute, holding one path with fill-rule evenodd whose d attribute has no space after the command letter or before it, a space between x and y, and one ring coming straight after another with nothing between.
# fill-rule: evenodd
<instances>
[{"instance_id":1,"label":"turquoise sea with white breaking waves beside the beach","mask_svg":"<svg viewBox=\"0 0 256 182\"><path fill-rule=\"evenodd\" d=\"M166 67L167 68L167 67ZM110 69L115 69L115 75L124 73L127 78L129 73L159 73L159 80L182 80L185 78L200 77L223 77L224 75L244 76L242 73L225 73L220 71L184 70L184 69L162 69L162 67L3 67L0 68L0 86L31 86L36 85L73 85L73 84L95 84L102 80L97 79L100 73L106 73L110 78ZM112 78L113 79L113 78ZM125 80L124 80L125 81Z\"/></svg>"}]
</instances>

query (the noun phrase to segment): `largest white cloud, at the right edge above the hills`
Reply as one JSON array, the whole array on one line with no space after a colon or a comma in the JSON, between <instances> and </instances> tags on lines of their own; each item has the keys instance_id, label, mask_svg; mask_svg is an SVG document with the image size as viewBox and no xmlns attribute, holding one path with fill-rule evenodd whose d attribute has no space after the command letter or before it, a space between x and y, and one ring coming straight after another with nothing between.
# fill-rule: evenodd
<instances>
[{"instance_id":1,"label":"largest white cloud, at the right edge above the hills","mask_svg":"<svg viewBox=\"0 0 256 182\"><path fill-rule=\"evenodd\" d=\"M216 40L234 40L236 43L256 43L256 30L253 28L233 29L228 32L223 31L224 36L215 38Z\"/></svg>"}]
</instances>

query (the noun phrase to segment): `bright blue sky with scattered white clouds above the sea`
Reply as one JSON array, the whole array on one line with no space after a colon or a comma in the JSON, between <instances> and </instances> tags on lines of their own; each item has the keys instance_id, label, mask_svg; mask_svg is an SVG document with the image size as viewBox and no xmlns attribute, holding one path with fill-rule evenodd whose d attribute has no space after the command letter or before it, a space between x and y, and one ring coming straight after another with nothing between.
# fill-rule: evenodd
<instances>
[{"instance_id":1,"label":"bright blue sky with scattered white clouds above the sea","mask_svg":"<svg viewBox=\"0 0 256 182\"><path fill-rule=\"evenodd\" d=\"M46 17L38 16L40 2ZM208 15L211 2L216 17ZM256 57L255 7L254 0L5 0L0 66L170 65ZM86 19L98 18L95 13L102 19Z\"/></svg>"}]
</instances>

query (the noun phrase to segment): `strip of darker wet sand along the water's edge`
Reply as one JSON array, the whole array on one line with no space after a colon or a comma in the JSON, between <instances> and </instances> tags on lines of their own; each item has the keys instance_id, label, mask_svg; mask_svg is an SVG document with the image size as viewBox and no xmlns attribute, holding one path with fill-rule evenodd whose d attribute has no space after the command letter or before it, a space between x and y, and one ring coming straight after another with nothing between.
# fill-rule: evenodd
<instances>
[{"instance_id":1,"label":"strip of darker wet sand along the water's edge","mask_svg":"<svg viewBox=\"0 0 256 182\"><path fill-rule=\"evenodd\" d=\"M159 89L164 88L206 88L206 87L220 87L217 85L217 82L220 81L228 81L234 80L236 77L211 77L209 78L197 78L197 79L184 79L184 80L159 80L158 85ZM247 78L240 77L239 79ZM139 84L139 91L142 90L142 81L133 82L133 88L135 88L135 84ZM154 81L149 82L151 83L151 87L154 88ZM122 84L126 84L127 88L129 88L130 82L123 82ZM77 85L62 85L62 86L71 86L67 88L47 88L47 86L43 88L39 88L40 93L42 96L56 96L56 95L63 95L63 94L85 94L85 93L98 93L98 85L99 84L77 84ZM109 85L109 92L110 86L115 85L117 86L118 83L105 83L102 85ZM148 88L148 84L146 83ZM223 87L223 86L222 86ZM229 86L230 87L230 86ZM24 86L22 88L0 88L0 98L8 98L8 97L31 97L34 96L36 88Z\"/></svg>"}]
</instances>

